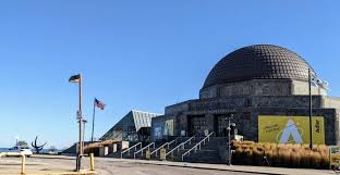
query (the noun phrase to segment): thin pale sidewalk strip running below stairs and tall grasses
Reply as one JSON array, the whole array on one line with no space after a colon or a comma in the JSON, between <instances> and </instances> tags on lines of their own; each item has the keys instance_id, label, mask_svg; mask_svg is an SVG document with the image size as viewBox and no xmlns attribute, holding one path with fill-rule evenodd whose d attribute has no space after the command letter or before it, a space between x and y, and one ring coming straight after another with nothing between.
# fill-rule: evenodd
<instances>
[{"instance_id":1,"label":"thin pale sidewalk strip running below stairs and tall grasses","mask_svg":"<svg viewBox=\"0 0 340 175\"><path fill-rule=\"evenodd\" d=\"M244 166L244 165L224 165L224 164L205 164L205 163L187 163L187 162L169 162L169 161L147 161L147 160L130 160L130 159L113 159L113 158L96 158L99 161L112 162L131 162L141 164L154 164L166 166L180 166L190 168L204 168L215 171L231 171L257 174L284 174L284 175L330 175L336 174L329 170L311 170L311 168L287 168L287 167L268 167L268 166Z\"/></svg>"}]
</instances>

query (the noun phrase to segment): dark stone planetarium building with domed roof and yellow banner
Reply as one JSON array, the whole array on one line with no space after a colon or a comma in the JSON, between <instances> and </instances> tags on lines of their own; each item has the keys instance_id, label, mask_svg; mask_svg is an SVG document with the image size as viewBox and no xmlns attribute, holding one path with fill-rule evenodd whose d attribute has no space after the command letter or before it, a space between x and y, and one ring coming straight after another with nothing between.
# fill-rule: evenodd
<instances>
[{"instance_id":1,"label":"dark stone planetarium building with domed roof and yellow banner","mask_svg":"<svg viewBox=\"0 0 340 175\"><path fill-rule=\"evenodd\" d=\"M151 121L151 138L198 133L224 137L228 116L246 140L309 143L309 83L317 73L300 55L272 45L238 49L210 71L199 99L169 105ZM314 143L339 145L340 99L311 87Z\"/></svg>"}]
</instances>

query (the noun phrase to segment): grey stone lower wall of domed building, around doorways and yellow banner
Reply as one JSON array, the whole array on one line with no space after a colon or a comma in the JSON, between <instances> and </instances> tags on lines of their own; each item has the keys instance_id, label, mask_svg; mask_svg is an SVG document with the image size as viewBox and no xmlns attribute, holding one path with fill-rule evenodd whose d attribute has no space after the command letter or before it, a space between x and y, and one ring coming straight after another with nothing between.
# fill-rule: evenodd
<instances>
[{"instance_id":1,"label":"grey stone lower wall of domed building, around doorways and yellow banner","mask_svg":"<svg viewBox=\"0 0 340 175\"><path fill-rule=\"evenodd\" d=\"M174 135L181 136L181 132L187 134L187 116L204 115L206 128L214 132L214 116L234 114L232 122L236 123L239 134L244 139L258 141L258 115L288 115L308 116L308 96L265 96L265 97L232 97L191 100L168 107L165 116L153 118L153 128L158 125L163 128L165 121L174 120ZM326 99L326 100L325 100ZM337 104L337 99L332 99ZM339 111L336 109L324 109L326 97L313 97L313 115L325 117L326 142L338 145L339 141ZM326 102L327 105L330 104ZM175 108L173 110L172 108ZM171 112L171 113L170 113ZM163 132L163 130L161 130Z\"/></svg>"}]
</instances>

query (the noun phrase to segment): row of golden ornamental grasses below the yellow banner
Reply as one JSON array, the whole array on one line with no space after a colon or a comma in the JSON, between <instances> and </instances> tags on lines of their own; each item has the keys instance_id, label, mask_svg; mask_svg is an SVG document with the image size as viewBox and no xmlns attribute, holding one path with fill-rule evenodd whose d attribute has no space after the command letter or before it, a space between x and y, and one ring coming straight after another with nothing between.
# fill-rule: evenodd
<instances>
[{"instance_id":1,"label":"row of golden ornamental grasses below the yellow banner","mask_svg":"<svg viewBox=\"0 0 340 175\"><path fill-rule=\"evenodd\" d=\"M266 155L270 166L328 168L329 152L325 145L269 143L232 141L233 162L236 164L263 165Z\"/></svg>"}]
</instances>

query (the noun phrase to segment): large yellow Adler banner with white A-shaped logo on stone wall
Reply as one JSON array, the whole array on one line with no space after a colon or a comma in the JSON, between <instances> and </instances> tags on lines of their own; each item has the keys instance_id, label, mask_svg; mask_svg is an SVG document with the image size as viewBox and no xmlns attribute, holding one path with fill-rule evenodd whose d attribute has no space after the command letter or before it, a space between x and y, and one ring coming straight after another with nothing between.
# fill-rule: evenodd
<instances>
[{"instance_id":1,"label":"large yellow Adler banner with white A-shaped logo on stone wall","mask_svg":"<svg viewBox=\"0 0 340 175\"><path fill-rule=\"evenodd\" d=\"M312 117L313 143L325 143L323 116ZM258 141L309 143L308 116L258 115Z\"/></svg>"}]
</instances>

